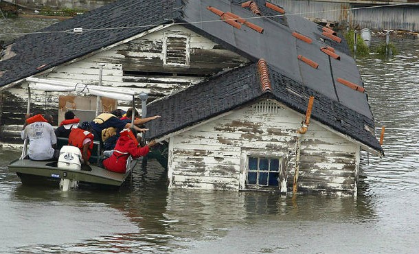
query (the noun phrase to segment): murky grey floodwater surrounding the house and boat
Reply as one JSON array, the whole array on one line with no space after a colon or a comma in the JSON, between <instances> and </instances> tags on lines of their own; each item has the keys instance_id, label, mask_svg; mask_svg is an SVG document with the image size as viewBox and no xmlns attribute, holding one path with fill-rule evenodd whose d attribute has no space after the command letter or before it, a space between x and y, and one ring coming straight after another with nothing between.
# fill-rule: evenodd
<instances>
[{"instance_id":1,"label":"murky grey floodwater surrounding the house and boat","mask_svg":"<svg viewBox=\"0 0 419 254\"><path fill-rule=\"evenodd\" d=\"M417 253L419 39L358 58L385 157L363 152L357 198L168 189L156 161L119 192L21 185L0 149L0 253ZM381 41L374 38L372 44Z\"/></svg>"}]
</instances>

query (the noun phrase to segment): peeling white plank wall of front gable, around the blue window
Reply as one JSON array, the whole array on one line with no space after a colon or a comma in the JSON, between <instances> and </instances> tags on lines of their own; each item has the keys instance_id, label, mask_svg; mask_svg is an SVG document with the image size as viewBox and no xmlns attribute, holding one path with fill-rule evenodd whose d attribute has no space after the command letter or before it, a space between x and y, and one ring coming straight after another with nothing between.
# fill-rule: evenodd
<instances>
[{"instance_id":1,"label":"peeling white plank wall of front gable, around the blue window","mask_svg":"<svg viewBox=\"0 0 419 254\"><path fill-rule=\"evenodd\" d=\"M281 105L271 105L270 112L265 107L260 102L171 137L170 187L245 189L243 157L260 154L286 157L286 176L280 182L286 181L285 189L292 192L296 130L304 116ZM358 153L356 144L311 122L302 139L299 191L353 194Z\"/></svg>"}]
</instances>

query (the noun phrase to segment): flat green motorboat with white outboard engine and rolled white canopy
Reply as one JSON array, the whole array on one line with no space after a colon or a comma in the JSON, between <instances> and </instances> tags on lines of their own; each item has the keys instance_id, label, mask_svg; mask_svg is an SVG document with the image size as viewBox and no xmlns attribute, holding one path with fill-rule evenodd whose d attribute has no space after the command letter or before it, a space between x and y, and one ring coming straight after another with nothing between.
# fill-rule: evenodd
<instances>
[{"instance_id":1,"label":"flat green motorboat with white outboard engine and rolled white canopy","mask_svg":"<svg viewBox=\"0 0 419 254\"><path fill-rule=\"evenodd\" d=\"M39 78L27 78L28 106L30 113L30 90L41 91L76 91L89 93L96 96L111 97L116 100L133 101L139 93L134 91L122 91L113 87L94 86L80 83L60 82L56 80L44 80ZM144 97L144 95L143 95ZM146 99L145 99L146 100ZM145 104L145 103L144 103ZM119 188L131 178L133 168L141 158L128 158L126 173L111 172L102 167L100 157L102 148L99 141L93 141L93 151L89 162L90 165L82 165L81 152L74 146L67 146L68 139L58 138L57 147L60 149L58 161L33 161L27 157L27 139L24 142L21 157L12 161L8 168L16 173L24 185L53 185L60 187L63 192L78 187L110 187Z\"/></svg>"}]
</instances>

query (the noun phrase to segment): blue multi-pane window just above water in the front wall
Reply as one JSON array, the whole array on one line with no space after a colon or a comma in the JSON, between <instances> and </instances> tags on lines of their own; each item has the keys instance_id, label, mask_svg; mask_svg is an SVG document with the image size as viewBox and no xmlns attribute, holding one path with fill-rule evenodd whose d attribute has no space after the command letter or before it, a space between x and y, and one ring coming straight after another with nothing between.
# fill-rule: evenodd
<instances>
[{"instance_id":1,"label":"blue multi-pane window just above water in the front wall","mask_svg":"<svg viewBox=\"0 0 419 254\"><path fill-rule=\"evenodd\" d=\"M281 158L248 157L246 185L250 188L280 184Z\"/></svg>"}]
</instances>

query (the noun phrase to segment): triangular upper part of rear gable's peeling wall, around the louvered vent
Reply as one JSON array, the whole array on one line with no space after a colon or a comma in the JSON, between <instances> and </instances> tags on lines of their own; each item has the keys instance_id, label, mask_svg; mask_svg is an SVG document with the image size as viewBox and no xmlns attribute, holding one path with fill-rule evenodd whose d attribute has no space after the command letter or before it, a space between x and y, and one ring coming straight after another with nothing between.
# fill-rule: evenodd
<instances>
[{"instance_id":1,"label":"triangular upper part of rear gable's peeling wall, around the louvered vent","mask_svg":"<svg viewBox=\"0 0 419 254\"><path fill-rule=\"evenodd\" d=\"M163 40L170 35L190 38L189 67L163 65ZM179 54L184 54L183 50L181 47ZM218 71L238 67L249 60L180 25L174 25L80 62L60 67L46 78L97 84L99 62L105 63L102 85L144 91L148 93L150 102L168 95L173 89L183 89Z\"/></svg>"}]
</instances>

